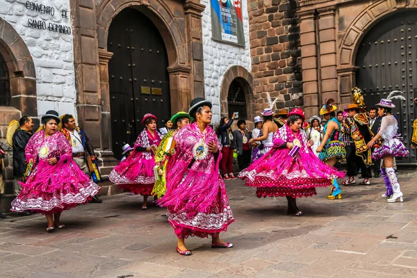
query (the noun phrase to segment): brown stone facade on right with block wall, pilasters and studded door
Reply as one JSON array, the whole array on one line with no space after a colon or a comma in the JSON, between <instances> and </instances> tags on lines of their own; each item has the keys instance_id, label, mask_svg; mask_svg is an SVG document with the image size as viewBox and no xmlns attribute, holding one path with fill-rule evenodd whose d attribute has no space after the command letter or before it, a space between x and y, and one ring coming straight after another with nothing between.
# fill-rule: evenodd
<instances>
[{"instance_id":1,"label":"brown stone facade on right with block wall, pilasters and studded door","mask_svg":"<svg viewBox=\"0 0 417 278\"><path fill-rule=\"evenodd\" d=\"M255 107L263 92L277 108L303 106L318 115L326 99L342 109L358 86L368 106L404 92L394 113L406 145L416 115L416 0L249 1ZM259 96L260 97L259 97ZM402 163L416 163L416 153Z\"/></svg>"}]
</instances>

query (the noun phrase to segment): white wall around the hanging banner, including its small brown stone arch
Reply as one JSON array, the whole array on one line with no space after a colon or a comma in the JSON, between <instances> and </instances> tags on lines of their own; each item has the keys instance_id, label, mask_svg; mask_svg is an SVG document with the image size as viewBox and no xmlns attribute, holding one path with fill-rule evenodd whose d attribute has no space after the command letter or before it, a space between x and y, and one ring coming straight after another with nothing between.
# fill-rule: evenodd
<instances>
[{"instance_id":1,"label":"white wall around the hanging banner, including its small brown stone arch","mask_svg":"<svg viewBox=\"0 0 417 278\"><path fill-rule=\"evenodd\" d=\"M220 122L220 117L229 117L228 95L233 93L232 82L238 82L243 89L246 107L246 119L253 120L254 106L253 86L250 60L249 15L247 1L236 1L241 5L243 13L243 30L245 45L237 46L213 40L211 26L211 3L202 0L206 6L202 13L203 56L204 56L204 90L206 99L213 102L213 124ZM232 108L233 106L231 106Z\"/></svg>"}]
</instances>

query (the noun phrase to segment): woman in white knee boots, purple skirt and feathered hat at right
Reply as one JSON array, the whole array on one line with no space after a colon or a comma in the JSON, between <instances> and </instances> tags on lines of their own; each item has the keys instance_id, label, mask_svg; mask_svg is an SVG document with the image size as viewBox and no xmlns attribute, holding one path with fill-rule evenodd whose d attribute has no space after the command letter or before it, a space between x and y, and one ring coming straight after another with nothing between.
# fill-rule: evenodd
<instances>
[{"instance_id":1,"label":"woman in white knee boots, purple skirt and feathered hat at right","mask_svg":"<svg viewBox=\"0 0 417 278\"><path fill-rule=\"evenodd\" d=\"M404 93L398 90L391 92L386 99L381 99L377 104L378 115L382 117L381 126L378 133L368 142L368 147L372 147L375 142L382 139L382 144L375 148L372 157L383 159L382 177L384 177L386 192L382 197L387 198L387 202L395 203L399 199L402 202L402 192L400 183L398 183L397 175L393 168L395 156L407 156L408 149L402 144L400 136L397 134L398 121L392 114L395 108L393 99L406 100Z\"/></svg>"}]
</instances>

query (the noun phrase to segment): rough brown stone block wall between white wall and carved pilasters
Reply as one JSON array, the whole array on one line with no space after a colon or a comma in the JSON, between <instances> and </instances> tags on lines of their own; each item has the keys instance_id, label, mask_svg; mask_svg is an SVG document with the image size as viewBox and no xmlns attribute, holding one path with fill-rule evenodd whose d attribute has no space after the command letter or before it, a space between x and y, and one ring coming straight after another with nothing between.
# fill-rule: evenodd
<instances>
[{"instance_id":1,"label":"rough brown stone block wall between white wall and carved pilasters","mask_svg":"<svg viewBox=\"0 0 417 278\"><path fill-rule=\"evenodd\" d=\"M302 106L300 19L296 0L249 0L250 54L255 111L268 107L265 92L279 108Z\"/></svg>"}]
</instances>

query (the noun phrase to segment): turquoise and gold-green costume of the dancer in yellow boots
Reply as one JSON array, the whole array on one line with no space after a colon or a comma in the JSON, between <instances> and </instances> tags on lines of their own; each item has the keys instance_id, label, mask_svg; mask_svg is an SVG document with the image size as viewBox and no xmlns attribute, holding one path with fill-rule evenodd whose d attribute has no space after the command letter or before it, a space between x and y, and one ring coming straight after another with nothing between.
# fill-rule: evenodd
<instances>
[{"instance_id":1,"label":"turquoise and gold-green costume of the dancer in yellow boots","mask_svg":"<svg viewBox=\"0 0 417 278\"><path fill-rule=\"evenodd\" d=\"M334 131L332 131L332 134L327 140L318 158L320 158L321 161L327 161L329 159L336 157L336 162L345 161L346 150L345 150L345 146L343 145L343 142L341 142L341 132L340 132L341 124L340 122L338 122L336 118L332 117L332 119L330 119L326 123L325 129L323 129L323 134L326 134L327 125L329 124L329 122L336 122L339 129L338 130L334 129Z\"/></svg>"}]
</instances>

